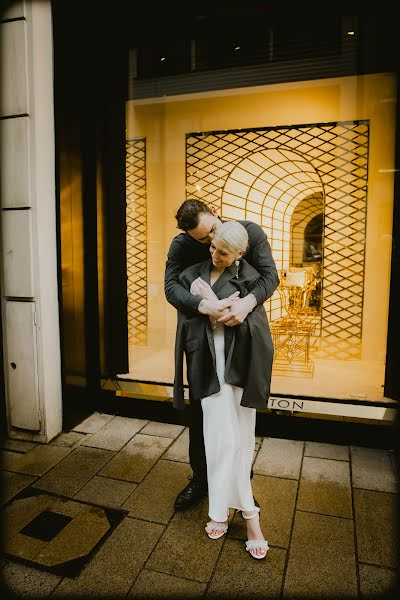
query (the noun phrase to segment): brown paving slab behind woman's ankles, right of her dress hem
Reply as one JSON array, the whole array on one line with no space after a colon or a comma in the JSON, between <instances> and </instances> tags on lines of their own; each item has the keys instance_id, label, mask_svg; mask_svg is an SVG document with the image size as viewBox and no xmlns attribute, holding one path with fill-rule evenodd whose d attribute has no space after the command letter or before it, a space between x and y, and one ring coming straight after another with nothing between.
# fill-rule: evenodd
<instances>
[{"instance_id":1,"label":"brown paving slab behind woman's ankles, right of her dress hem","mask_svg":"<svg viewBox=\"0 0 400 600\"><path fill-rule=\"evenodd\" d=\"M254 475L254 497L260 505L260 525L270 546L288 548L296 504L297 481ZM247 539L246 521L236 511L228 531L229 538Z\"/></svg>"}]
</instances>

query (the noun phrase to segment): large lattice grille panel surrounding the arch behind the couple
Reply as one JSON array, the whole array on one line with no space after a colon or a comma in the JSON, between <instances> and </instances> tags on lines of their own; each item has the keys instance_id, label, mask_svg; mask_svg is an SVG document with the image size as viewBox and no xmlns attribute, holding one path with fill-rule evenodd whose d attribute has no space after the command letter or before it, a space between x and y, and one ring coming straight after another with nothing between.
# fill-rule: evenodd
<instances>
[{"instance_id":1,"label":"large lattice grille panel surrounding the arch behind the couple","mask_svg":"<svg viewBox=\"0 0 400 600\"><path fill-rule=\"evenodd\" d=\"M289 266L296 207L322 198L319 356L360 356L368 131L367 121L349 121L186 136L187 197L212 204L224 219L259 223L278 269ZM266 306L270 320L282 316L277 293Z\"/></svg>"}]
</instances>

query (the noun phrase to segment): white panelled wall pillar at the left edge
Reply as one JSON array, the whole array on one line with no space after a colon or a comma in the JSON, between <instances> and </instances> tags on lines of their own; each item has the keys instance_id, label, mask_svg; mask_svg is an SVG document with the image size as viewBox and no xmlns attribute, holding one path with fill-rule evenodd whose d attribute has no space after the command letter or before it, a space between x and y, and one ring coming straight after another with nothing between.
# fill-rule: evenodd
<instances>
[{"instance_id":1,"label":"white panelled wall pillar at the left edge","mask_svg":"<svg viewBox=\"0 0 400 600\"><path fill-rule=\"evenodd\" d=\"M51 4L1 15L1 302L10 437L62 430Z\"/></svg>"}]
</instances>

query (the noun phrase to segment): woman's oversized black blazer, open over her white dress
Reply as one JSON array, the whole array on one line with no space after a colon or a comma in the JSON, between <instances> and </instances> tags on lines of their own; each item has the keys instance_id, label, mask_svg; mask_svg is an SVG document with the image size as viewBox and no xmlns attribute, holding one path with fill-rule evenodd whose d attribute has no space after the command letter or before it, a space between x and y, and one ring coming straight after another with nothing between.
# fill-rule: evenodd
<instances>
[{"instance_id":1,"label":"woman's oversized black blazer, open over her white dress","mask_svg":"<svg viewBox=\"0 0 400 600\"><path fill-rule=\"evenodd\" d=\"M180 275L183 287L201 277L210 283L211 259L185 269ZM260 274L241 260L239 278L236 266L227 267L212 286L219 299L236 291L240 297L249 294ZM264 306L257 305L241 325L224 327L225 381L244 388L242 406L266 408L270 392L273 344ZM190 401L215 394L220 390L216 372L214 338L207 315L188 315L178 311L175 340L175 380L173 405L184 408L183 355L186 355Z\"/></svg>"}]
</instances>

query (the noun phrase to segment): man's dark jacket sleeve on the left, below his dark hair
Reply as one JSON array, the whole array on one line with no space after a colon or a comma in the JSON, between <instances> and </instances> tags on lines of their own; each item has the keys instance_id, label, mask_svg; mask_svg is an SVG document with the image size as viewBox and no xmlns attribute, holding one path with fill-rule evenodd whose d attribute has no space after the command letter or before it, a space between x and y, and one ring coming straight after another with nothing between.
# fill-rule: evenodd
<instances>
[{"instance_id":1,"label":"man's dark jacket sleeve on the left, below his dark hair","mask_svg":"<svg viewBox=\"0 0 400 600\"><path fill-rule=\"evenodd\" d=\"M186 289L180 280L180 274L185 269L185 249L179 239L172 240L168 251L164 273L164 293L167 301L177 310L185 314L195 314L201 298L194 296Z\"/></svg>"}]
</instances>

